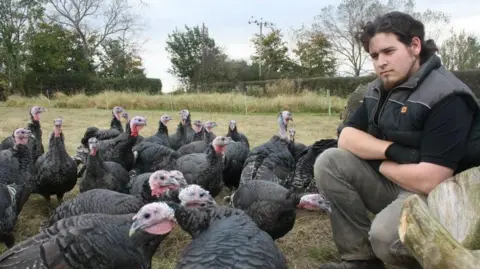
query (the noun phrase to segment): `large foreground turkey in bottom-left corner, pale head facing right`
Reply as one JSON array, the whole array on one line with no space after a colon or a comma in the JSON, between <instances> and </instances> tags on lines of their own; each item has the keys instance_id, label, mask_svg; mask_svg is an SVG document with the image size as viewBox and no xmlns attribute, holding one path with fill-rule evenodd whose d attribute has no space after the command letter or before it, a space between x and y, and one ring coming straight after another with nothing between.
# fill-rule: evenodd
<instances>
[{"instance_id":1,"label":"large foreground turkey in bottom-left corner, pale head facing right","mask_svg":"<svg viewBox=\"0 0 480 269\"><path fill-rule=\"evenodd\" d=\"M142 215L164 218L142 209ZM132 218L138 217L94 213L62 219L2 253L0 269L151 268L153 253L168 233L159 233L163 223L152 217L149 232L130 237Z\"/></svg>"}]
</instances>

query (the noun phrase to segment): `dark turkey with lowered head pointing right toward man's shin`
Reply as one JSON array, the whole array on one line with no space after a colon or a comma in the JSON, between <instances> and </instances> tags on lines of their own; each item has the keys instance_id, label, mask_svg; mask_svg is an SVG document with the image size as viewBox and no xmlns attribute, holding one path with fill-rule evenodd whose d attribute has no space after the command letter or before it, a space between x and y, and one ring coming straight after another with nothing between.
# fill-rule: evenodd
<instances>
[{"instance_id":1,"label":"dark turkey with lowered head pointing right toward man's shin","mask_svg":"<svg viewBox=\"0 0 480 269\"><path fill-rule=\"evenodd\" d=\"M330 203L320 194L295 194L277 183L252 180L240 185L230 200L233 207L244 210L258 227L273 240L286 235L294 226L296 208L331 212Z\"/></svg>"}]
</instances>

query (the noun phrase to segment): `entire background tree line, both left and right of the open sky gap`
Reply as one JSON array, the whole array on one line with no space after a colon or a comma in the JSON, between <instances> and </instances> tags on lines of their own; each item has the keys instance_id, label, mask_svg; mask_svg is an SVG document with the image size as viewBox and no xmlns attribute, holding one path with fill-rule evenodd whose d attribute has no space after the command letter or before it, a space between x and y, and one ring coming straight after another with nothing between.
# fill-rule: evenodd
<instances>
[{"instance_id":1,"label":"entire background tree line, both left and right of the open sky gap","mask_svg":"<svg viewBox=\"0 0 480 269\"><path fill-rule=\"evenodd\" d=\"M66 93L88 88L147 87L161 91L159 79L147 79L137 40L144 30L133 3L141 0L2 0L0 1L0 97L13 93ZM249 60L231 59L205 25L185 25L169 35L165 49L171 68L187 91L212 83L280 78L358 77L371 74L368 55L356 41L366 21L392 10L420 18L434 40L450 23L448 14L418 12L414 0L342 0L326 6L311 25L279 29L262 23L251 42ZM248 19L248 18L246 18ZM245 27L248 27L247 25ZM287 46L287 30L295 48ZM452 32L439 45L452 70L480 67L478 37ZM293 56L291 56L293 55ZM339 74L340 66L347 66Z\"/></svg>"}]
</instances>

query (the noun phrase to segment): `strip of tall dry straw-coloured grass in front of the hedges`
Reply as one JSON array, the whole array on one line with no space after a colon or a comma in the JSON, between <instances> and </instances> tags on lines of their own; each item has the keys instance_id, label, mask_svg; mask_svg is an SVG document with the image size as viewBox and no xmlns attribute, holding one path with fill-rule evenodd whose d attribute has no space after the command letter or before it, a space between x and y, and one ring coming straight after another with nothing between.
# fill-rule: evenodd
<instances>
[{"instance_id":1,"label":"strip of tall dry straw-coloured grass in front of the hedges","mask_svg":"<svg viewBox=\"0 0 480 269\"><path fill-rule=\"evenodd\" d=\"M110 109L121 105L127 110L180 110L188 108L199 112L227 113L275 113L288 109L297 113L339 113L346 100L326 92L302 91L299 93L269 94L267 97L253 97L240 93L176 94L148 95L142 93L105 91L93 96L77 94L66 96L56 93L51 98L39 95L24 98L10 96L5 102L7 107L27 107L43 105L52 108L97 108Z\"/></svg>"}]
</instances>

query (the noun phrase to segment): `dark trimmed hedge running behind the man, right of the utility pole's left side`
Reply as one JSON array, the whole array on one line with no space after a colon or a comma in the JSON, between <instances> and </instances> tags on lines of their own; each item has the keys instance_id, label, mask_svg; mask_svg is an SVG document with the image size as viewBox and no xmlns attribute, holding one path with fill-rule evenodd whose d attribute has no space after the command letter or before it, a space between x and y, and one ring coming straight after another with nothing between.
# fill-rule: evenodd
<instances>
[{"instance_id":1,"label":"dark trimmed hedge running behind the man, right of the utility pole's left side","mask_svg":"<svg viewBox=\"0 0 480 269\"><path fill-rule=\"evenodd\" d=\"M460 80L467 84L473 92L480 98L480 70L453 71ZM309 89L320 91L329 89L331 95L338 97L347 97L360 84L366 84L375 79L375 76L362 77L316 77L316 78L298 78L291 79L295 82L298 89ZM210 85L211 89L219 92L228 92L234 90L246 91L247 86L265 87L268 84L275 83L278 80L263 81L244 81L244 82L219 82Z\"/></svg>"}]
</instances>

